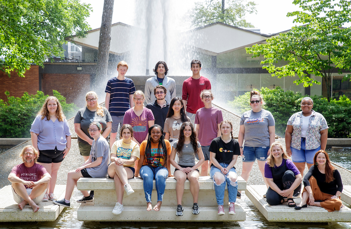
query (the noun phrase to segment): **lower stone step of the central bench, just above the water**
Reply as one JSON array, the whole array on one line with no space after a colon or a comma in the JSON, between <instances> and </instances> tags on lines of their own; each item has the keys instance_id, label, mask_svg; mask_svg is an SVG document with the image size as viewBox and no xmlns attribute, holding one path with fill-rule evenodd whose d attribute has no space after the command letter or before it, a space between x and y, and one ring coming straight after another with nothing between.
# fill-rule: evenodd
<instances>
[{"instance_id":1,"label":"lower stone step of the central bench, just above the water","mask_svg":"<svg viewBox=\"0 0 351 229\"><path fill-rule=\"evenodd\" d=\"M144 203L145 204L145 203ZM218 215L217 207L201 207L198 215L192 214L192 207L184 207L183 216L176 216L177 206L161 206L159 212L146 211L146 204L143 207L128 207L124 204L124 210L119 215L112 214L114 206L96 207L92 202L82 203L77 211L79 221L174 221L174 222L230 222L245 221L246 212L238 201L235 204L235 215L228 214L228 208L224 209L225 215Z\"/></svg>"}]
</instances>

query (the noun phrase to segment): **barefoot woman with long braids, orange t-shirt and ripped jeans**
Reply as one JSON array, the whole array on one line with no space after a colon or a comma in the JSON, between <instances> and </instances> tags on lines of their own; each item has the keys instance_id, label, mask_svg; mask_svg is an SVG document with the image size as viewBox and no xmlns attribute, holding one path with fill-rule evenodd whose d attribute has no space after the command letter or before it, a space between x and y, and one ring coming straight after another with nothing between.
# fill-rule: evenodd
<instances>
[{"instance_id":1,"label":"barefoot woman with long braids, orange t-shirt and ripped jeans","mask_svg":"<svg viewBox=\"0 0 351 229\"><path fill-rule=\"evenodd\" d=\"M143 179L147 211L152 209L151 193L153 179L156 181L157 204L153 208L159 211L166 187L166 178L171 175L170 154L171 144L165 140L160 125L153 125L148 130L148 139L140 144L140 160L137 171Z\"/></svg>"}]
</instances>

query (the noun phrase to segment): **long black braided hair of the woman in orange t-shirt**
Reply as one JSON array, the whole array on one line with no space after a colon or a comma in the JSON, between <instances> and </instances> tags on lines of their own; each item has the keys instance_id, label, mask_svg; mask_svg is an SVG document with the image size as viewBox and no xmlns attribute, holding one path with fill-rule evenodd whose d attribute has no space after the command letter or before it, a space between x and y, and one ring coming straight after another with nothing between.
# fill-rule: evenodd
<instances>
[{"instance_id":1,"label":"long black braided hair of the woman in orange t-shirt","mask_svg":"<svg viewBox=\"0 0 351 229\"><path fill-rule=\"evenodd\" d=\"M146 162L148 165L152 165L153 162L150 160L151 158L151 142L152 142L152 137L151 137L151 130L153 128L159 128L161 130L161 138L158 142L158 147L157 147L157 160L159 162L161 162L161 159L163 159L163 162L164 162L164 165L163 166L166 166L167 165L167 146L166 146L166 143L165 143L165 137L163 136L163 129L160 125L158 124L155 124L153 126L151 126L148 130L148 133L149 133L149 137L147 138L147 143L146 143L146 147L145 147L145 158L146 158ZM161 151L162 149L162 151ZM161 154L161 152L163 152Z\"/></svg>"}]
</instances>

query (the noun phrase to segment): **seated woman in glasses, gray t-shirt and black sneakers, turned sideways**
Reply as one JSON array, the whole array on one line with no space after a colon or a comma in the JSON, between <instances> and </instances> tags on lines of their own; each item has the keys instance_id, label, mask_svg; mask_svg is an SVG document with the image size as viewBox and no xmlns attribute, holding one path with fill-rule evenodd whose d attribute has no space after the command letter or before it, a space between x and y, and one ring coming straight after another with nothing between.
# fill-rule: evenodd
<instances>
[{"instance_id":1,"label":"seated woman in glasses, gray t-shirt and black sneakers, turned sideways","mask_svg":"<svg viewBox=\"0 0 351 229\"><path fill-rule=\"evenodd\" d=\"M91 146L89 159L79 166L76 170L68 172L66 194L62 200L53 200L54 204L70 207L69 200L77 184L77 180L81 177L107 177L107 167L110 159L110 146L104 137L101 136L102 126L99 122L92 122L89 126L89 134L94 138ZM91 202L93 196L88 191L81 191L84 195L82 199L77 200L78 203Z\"/></svg>"}]
</instances>

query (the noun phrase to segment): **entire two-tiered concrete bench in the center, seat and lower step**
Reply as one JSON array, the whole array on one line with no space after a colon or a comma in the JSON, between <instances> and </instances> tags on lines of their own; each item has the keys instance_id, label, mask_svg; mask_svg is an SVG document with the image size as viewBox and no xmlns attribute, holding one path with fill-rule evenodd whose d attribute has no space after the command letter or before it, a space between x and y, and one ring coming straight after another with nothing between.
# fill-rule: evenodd
<instances>
[{"instance_id":1,"label":"entire two-tiered concrete bench in the center, seat and lower step","mask_svg":"<svg viewBox=\"0 0 351 229\"><path fill-rule=\"evenodd\" d=\"M237 201L235 215L229 215L228 202L224 202L225 215L217 214L217 201L213 190L213 180L208 177L199 178L199 215L192 214L193 198L190 193L190 181L185 181L182 206L183 216L176 216L177 198L176 183L173 177L166 179L166 188L163 196L160 212L146 211L146 200L143 188L143 179L136 177L129 179L128 183L134 193L123 196L124 211L119 215L112 214L112 209L117 202L114 181L111 178L80 178L77 182L79 190L94 190L94 202L82 203L77 211L80 221L244 221L246 212ZM239 191L246 189L243 178L238 179ZM152 191L153 206L157 203L155 181ZM224 200L228 200L228 192L225 192Z\"/></svg>"}]
</instances>

